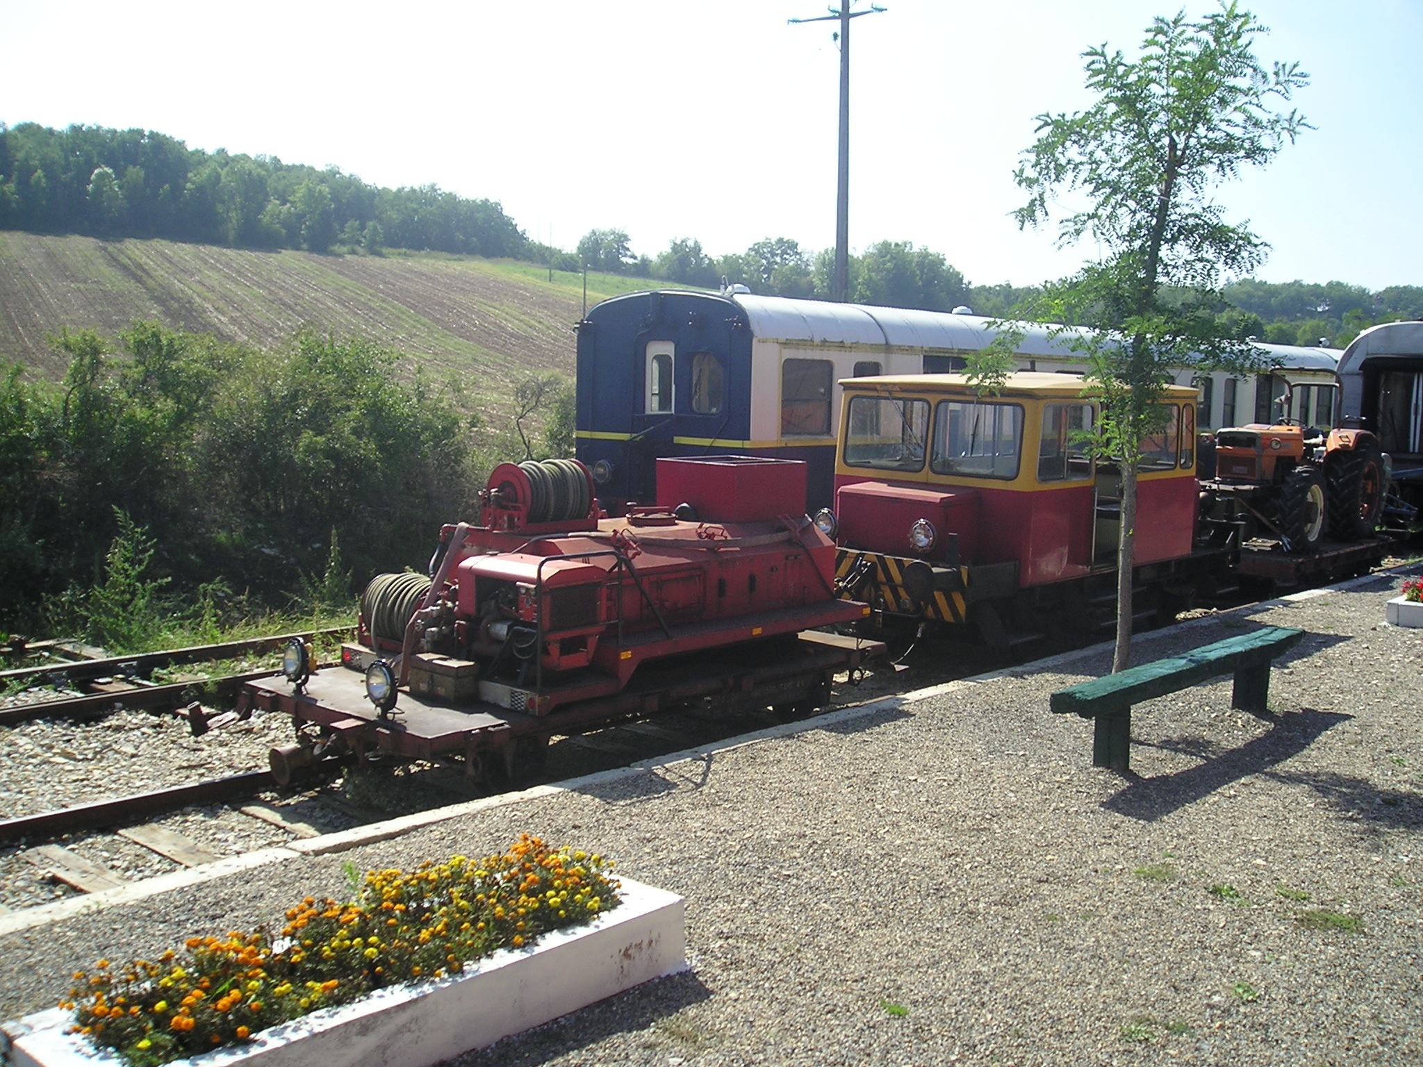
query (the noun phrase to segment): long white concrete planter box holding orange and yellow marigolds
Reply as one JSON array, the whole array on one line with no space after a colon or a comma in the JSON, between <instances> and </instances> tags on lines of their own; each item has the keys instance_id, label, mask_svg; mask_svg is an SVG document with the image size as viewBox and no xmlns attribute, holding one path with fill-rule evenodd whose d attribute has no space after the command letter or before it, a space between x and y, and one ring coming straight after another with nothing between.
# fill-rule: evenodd
<instances>
[{"instance_id":1,"label":"long white concrete planter box holding orange and yellow marigolds","mask_svg":"<svg viewBox=\"0 0 1423 1067\"><path fill-rule=\"evenodd\" d=\"M376 990L172 1067L427 1067L686 969L682 898L623 878L622 903L586 926L497 952L464 975ZM6 1023L0 1051L9 1046L14 1067L122 1067L111 1050L64 1033L71 1024L60 1009Z\"/></svg>"}]
</instances>

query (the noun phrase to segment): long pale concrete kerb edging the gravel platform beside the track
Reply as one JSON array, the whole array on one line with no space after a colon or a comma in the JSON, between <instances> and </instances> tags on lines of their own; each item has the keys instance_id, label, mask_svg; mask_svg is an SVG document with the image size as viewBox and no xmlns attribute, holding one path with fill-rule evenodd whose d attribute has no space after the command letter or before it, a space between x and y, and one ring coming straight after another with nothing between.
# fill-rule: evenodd
<instances>
[{"instance_id":1,"label":"long pale concrete kerb edging the gravel platform beside the track","mask_svg":"<svg viewBox=\"0 0 1423 1067\"><path fill-rule=\"evenodd\" d=\"M1210 626L1214 620L1222 619L1232 615L1242 615L1247 612L1257 612L1265 607L1278 607L1286 603L1296 603L1301 600L1313 600L1321 596L1331 596L1338 592L1348 592L1349 589L1375 582L1380 578L1396 578L1400 575L1416 575L1423 572L1423 563L1405 563L1400 566L1389 568L1387 570L1375 570L1373 573L1363 575L1360 578L1352 578L1346 582L1339 582L1332 586L1323 586L1319 589L1302 589L1298 593L1289 593L1274 600L1264 600L1261 603L1244 605L1241 607L1232 607L1227 612L1218 612L1215 615L1202 616L1200 619L1188 619L1183 623L1175 623L1174 626L1165 626L1160 630L1151 630L1143 633L1133 639L1134 646L1140 646L1154 640L1163 640L1165 637L1173 637L1180 633L1185 633L1192 629L1201 629ZM7 915L0 913L0 938L7 933L14 933L17 930L34 929L37 926L44 926L51 922L58 922L61 919L68 919L74 915L85 915L95 911L102 911L122 903L132 903L135 901L144 901L149 896L157 896L158 893L165 893L172 889L182 889L192 885L199 885L202 882L209 882L216 878L225 878L232 874L239 874L248 871L253 866L262 866L265 864L275 864L285 859L297 859L303 855L326 855L330 852L342 852L350 848L359 848L361 845L371 845L380 841L390 841L393 838L404 837L424 827L433 827L440 822L447 822L450 819L462 818L464 815L472 815L480 811L488 811L491 808L502 808L512 804L522 804L531 800L539 800L544 797L556 797L564 792L581 792L588 791L591 787L606 785L628 778L636 778L645 774L656 773L663 768L673 767L680 763L700 761L706 763L717 753L731 751L734 748L741 748L748 744L760 744L761 741L776 740L781 737L793 737L795 734L808 733L813 730L822 730L828 726L838 726L841 723L848 723L855 718L864 718L865 716L879 714L881 711L894 711L906 704L915 704L924 700L932 700L933 697L943 696L946 693L953 693L968 686L982 686L986 683L998 681L1005 677L1017 677L1027 673L1036 673L1042 670L1052 670L1054 667L1073 663L1074 660L1087 659L1090 656L1097 656L1103 652L1110 652L1113 642L1100 642L1091 644L1086 649L1073 649L1072 652L1064 652L1057 656L1049 656L1046 659L1033 660L1032 663L1025 663L1016 667L1005 667L1002 670L990 670L985 674L975 674L968 679L958 679L955 681L943 681L936 686L926 686L925 689L911 690L909 693L898 693L889 697L878 697L875 700L868 700L861 704L847 704L845 707L838 707L834 711L827 711L824 714L815 716L813 718L801 718L794 723L784 723L780 726L767 727L766 730L757 730L748 734L740 734L737 737L729 737L724 741L719 741L712 745L703 745L697 748L684 748L677 753L669 753L666 755L659 755L652 760L640 760L639 763L629 764L628 767L618 767L610 771L599 771L596 774L585 774L578 778L566 778L561 782L554 782L549 785L535 785L529 790L522 790L519 792L505 792L498 797L485 797L477 801L465 801L462 804L451 804L443 808L433 808L430 811L416 812L414 815L403 815L394 819L386 819L383 822L371 822L364 827L354 827L353 829L340 831L337 834L323 834L316 838L306 838L303 841L292 841L280 848L266 848L259 852L249 852L242 856L231 856L228 859L221 859L216 864L206 864L203 866L191 868L188 871L175 871L169 875L159 875L158 878L149 878L142 882L134 882L132 885L120 886L118 889L107 889L98 893L90 893L85 896L70 898L65 901L57 901L54 903L40 905L37 908L26 908L24 911L10 912Z\"/></svg>"}]
</instances>

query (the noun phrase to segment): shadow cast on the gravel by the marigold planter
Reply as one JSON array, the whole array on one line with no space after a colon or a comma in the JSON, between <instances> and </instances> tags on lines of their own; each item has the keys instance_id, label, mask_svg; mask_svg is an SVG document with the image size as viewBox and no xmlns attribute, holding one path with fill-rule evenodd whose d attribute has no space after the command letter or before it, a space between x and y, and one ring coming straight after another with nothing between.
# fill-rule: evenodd
<instances>
[{"instance_id":1,"label":"shadow cast on the gravel by the marigold planter","mask_svg":"<svg viewBox=\"0 0 1423 1067\"><path fill-rule=\"evenodd\" d=\"M689 970L647 982L448 1063L451 1067L532 1067L615 1034L639 1030L647 1031L643 1047L660 1053L656 1061L666 1063L667 1057L687 1057L716 1044L713 1033L690 1021L669 1019L710 997L712 990ZM649 1056L647 1063L652 1061Z\"/></svg>"}]
</instances>

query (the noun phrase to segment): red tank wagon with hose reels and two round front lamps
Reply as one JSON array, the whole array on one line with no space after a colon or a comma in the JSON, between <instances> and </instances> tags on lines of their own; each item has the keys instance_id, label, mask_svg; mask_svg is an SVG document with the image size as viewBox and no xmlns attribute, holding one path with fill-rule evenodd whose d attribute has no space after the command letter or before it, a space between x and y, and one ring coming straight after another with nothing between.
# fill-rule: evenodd
<instances>
[{"instance_id":1,"label":"red tank wagon with hose reels and two round front lamps","mask_svg":"<svg viewBox=\"0 0 1423 1067\"><path fill-rule=\"evenodd\" d=\"M379 575L346 669L250 681L239 713L290 714L277 781L327 757L462 761L474 780L535 768L551 736L714 699L814 707L882 646L813 632L858 622L835 546L804 514L805 464L657 461L659 502L603 516L573 460L501 464L484 525L450 525L430 578ZM794 504L793 504L794 502Z\"/></svg>"}]
</instances>

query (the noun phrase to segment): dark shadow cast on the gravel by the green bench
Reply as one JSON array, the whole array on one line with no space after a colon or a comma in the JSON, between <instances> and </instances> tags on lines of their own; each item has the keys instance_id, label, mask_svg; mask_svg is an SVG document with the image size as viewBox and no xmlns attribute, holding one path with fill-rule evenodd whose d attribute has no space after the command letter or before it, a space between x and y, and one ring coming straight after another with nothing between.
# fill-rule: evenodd
<instances>
[{"instance_id":1,"label":"dark shadow cast on the gravel by the green bench","mask_svg":"<svg viewBox=\"0 0 1423 1067\"><path fill-rule=\"evenodd\" d=\"M1163 815L1170 815L1173 811L1184 808L1187 804L1194 804L1211 795L1232 781L1238 781L1248 774L1268 771L1271 767L1298 755L1326 730L1349 718L1353 718L1353 716L1336 711L1318 711L1312 707L1302 708L1301 711L1274 720L1274 727L1254 741L1248 741L1239 748L1232 748L1215 758L1208 758L1197 767L1155 778L1130 775L1131 784L1113 797L1109 797L1101 807L1118 815L1153 822ZM1133 741L1133 744L1147 743ZM1165 741L1155 747L1190 754L1200 754L1201 750L1200 738L1181 738L1180 743ZM1375 790L1373 792L1377 791Z\"/></svg>"}]
</instances>

